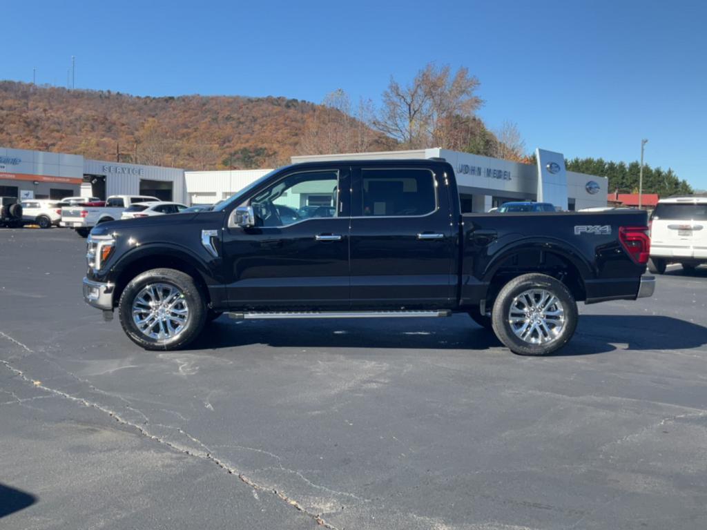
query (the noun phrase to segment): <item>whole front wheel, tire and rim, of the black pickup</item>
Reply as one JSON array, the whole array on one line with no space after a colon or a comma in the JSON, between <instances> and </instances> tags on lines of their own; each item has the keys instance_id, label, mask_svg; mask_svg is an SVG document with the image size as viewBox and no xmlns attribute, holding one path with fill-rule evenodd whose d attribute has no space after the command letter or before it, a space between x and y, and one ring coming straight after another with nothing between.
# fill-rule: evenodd
<instances>
[{"instance_id":1,"label":"whole front wheel, tire and rim, of the black pickup","mask_svg":"<svg viewBox=\"0 0 707 530\"><path fill-rule=\"evenodd\" d=\"M146 350L175 350L201 333L206 301L194 279L175 269L152 269L133 278L118 304L123 331Z\"/></svg>"}]
</instances>

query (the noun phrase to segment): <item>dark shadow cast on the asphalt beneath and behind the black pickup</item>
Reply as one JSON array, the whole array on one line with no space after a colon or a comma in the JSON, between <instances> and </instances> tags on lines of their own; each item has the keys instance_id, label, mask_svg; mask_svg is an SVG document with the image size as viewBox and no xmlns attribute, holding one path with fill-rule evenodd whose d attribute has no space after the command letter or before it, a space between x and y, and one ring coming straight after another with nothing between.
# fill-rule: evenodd
<instances>
[{"instance_id":1,"label":"dark shadow cast on the asphalt beneath and behind the black pickup","mask_svg":"<svg viewBox=\"0 0 707 530\"><path fill-rule=\"evenodd\" d=\"M267 344L291 348L398 348L482 351L503 345L464 314L445 319L249 320L221 317L190 350ZM572 341L557 356L629 350L677 350L707 344L707 328L672 317L580 316ZM621 346L624 348L624 346Z\"/></svg>"}]
</instances>

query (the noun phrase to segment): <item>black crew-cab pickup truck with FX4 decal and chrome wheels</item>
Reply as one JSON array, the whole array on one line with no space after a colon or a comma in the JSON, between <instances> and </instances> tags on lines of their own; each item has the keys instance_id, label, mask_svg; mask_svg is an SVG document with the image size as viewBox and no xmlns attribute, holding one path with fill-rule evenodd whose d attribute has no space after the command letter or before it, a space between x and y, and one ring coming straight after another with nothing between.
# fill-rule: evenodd
<instances>
[{"instance_id":1,"label":"black crew-cab pickup truck with FX4 decal and chrome wheels","mask_svg":"<svg viewBox=\"0 0 707 530\"><path fill-rule=\"evenodd\" d=\"M467 313L511 351L564 346L577 301L653 294L643 211L460 213L441 159L282 167L212 211L97 225L83 297L149 350L207 322Z\"/></svg>"}]
</instances>

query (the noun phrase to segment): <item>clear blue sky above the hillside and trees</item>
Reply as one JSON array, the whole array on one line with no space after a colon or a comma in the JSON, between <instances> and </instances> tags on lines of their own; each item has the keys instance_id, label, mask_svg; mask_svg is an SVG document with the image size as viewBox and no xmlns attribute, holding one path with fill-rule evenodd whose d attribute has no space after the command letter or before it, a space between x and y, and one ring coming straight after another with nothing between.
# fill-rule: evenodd
<instances>
[{"instance_id":1,"label":"clear blue sky above the hillside and trees","mask_svg":"<svg viewBox=\"0 0 707 530\"><path fill-rule=\"evenodd\" d=\"M527 148L645 160L707 188L707 2L4 0L0 78L136 95L380 100L467 66L480 116Z\"/></svg>"}]
</instances>

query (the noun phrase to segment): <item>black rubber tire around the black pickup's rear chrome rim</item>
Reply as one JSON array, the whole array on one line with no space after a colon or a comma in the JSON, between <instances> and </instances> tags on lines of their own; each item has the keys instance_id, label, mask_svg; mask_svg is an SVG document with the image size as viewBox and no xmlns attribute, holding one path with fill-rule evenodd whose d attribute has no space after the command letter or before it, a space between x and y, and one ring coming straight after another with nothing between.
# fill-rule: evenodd
<instances>
[{"instance_id":1,"label":"black rubber tire around the black pickup's rear chrome rim","mask_svg":"<svg viewBox=\"0 0 707 530\"><path fill-rule=\"evenodd\" d=\"M532 289L545 290L555 296L563 309L564 321L561 331L556 337L545 343L534 344L517 336L508 318L510 307L515 298ZM503 285L498 297L496 297L496 302L493 303L493 311L491 312L493 331L498 340L518 355L549 355L558 351L574 335L578 318L577 302L566 285L552 276L535 273L518 276ZM531 331L531 333L535 334L535 331ZM539 336L539 334L541 331L537 329L537 335Z\"/></svg>"}]
</instances>

